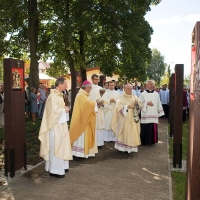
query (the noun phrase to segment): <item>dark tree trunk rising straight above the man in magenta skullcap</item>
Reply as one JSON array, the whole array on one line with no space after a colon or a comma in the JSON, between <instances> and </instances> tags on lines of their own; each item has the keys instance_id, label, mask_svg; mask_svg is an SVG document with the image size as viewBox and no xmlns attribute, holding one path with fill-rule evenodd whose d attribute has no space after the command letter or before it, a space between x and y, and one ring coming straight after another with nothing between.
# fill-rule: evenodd
<instances>
[{"instance_id":1,"label":"dark tree trunk rising straight above the man in magenta skullcap","mask_svg":"<svg viewBox=\"0 0 200 200\"><path fill-rule=\"evenodd\" d=\"M80 35L80 40L79 40L79 45L80 45L80 54L82 56L82 60L85 63L85 54L84 54L84 31L80 31L79 35ZM86 68L85 67L80 67L80 74L81 74L81 81L85 81L87 80L87 73L86 73Z\"/></svg>"}]
</instances>

